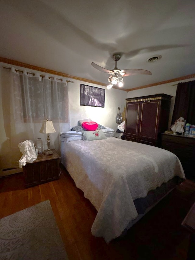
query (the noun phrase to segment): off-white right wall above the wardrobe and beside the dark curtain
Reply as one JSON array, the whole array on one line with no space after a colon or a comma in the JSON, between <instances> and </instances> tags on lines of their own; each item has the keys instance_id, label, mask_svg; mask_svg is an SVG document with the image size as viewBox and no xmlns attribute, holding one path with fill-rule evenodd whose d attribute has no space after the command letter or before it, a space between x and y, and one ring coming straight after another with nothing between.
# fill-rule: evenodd
<instances>
[{"instance_id":1,"label":"off-white right wall above the wardrobe and beside the dark curtain","mask_svg":"<svg viewBox=\"0 0 195 260\"><path fill-rule=\"evenodd\" d=\"M161 93L173 96L171 99L171 108L170 108L169 120L168 120L168 129L170 129L171 121L172 121L172 114L173 114L173 109L174 109L174 104L175 104L177 84L179 82L188 82L188 81L193 81L193 80L195 80L195 78L186 79L186 80L182 80L182 81L175 81L172 83L161 84L158 86L147 87L147 88L143 88L143 89L139 89L139 90L129 91L127 94L127 98L135 98L135 97L140 97L140 96L147 96L147 95L154 95L154 94L161 94Z\"/></svg>"}]
</instances>

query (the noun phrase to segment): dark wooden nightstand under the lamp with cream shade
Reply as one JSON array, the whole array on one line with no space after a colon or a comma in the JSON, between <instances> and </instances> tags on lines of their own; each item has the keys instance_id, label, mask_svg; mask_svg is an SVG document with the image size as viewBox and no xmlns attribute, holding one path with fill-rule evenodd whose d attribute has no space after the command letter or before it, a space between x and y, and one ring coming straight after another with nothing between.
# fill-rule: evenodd
<instances>
[{"instance_id":1,"label":"dark wooden nightstand under the lamp with cream shade","mask_svg":"<svg viewBox=\"0 0 195 260\"><path fill-rule=\"evenodd\" d=\"M26 187L39 185L48 181L59 179L60 175L60 156L55 149L51 149L53 155L38 155L32 163L23 166Z\"/></svg>"}]
</instances>

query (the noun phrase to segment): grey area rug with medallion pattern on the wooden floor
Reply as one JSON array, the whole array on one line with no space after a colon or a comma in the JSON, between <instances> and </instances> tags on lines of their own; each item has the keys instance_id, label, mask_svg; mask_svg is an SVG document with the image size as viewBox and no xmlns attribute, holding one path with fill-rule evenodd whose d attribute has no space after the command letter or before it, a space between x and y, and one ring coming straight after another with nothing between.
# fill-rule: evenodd
<instances>
[{"instance_id":1,"label":"grey area rug with medallion pattern on the wooden floor","mask_svg":"<svg viewBox=\"0 0 195 260\"><path fill-rule=\"evenodd\" d=\"M0 259L68 259L49 200L0 219Z\"/></svg>"}]
</instances>

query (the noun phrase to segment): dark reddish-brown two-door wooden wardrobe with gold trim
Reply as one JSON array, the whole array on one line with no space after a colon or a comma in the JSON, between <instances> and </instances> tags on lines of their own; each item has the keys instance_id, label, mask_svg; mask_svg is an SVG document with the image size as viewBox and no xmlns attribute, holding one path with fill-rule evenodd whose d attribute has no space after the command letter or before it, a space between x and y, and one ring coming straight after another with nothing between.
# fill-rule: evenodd
<instances>
[{"instance_id":1,"label":"dark reddish-brown two-door wooden wardrobe with gold trim","mask_svg":"<svg viewBox=\"0 0 195 260\"><path fill-rule=\"evenodd\" d=\"M171 98L167 94L126 98L125 140L160 146L160 134L168 128Z\"/></svg>"}]
</instances>

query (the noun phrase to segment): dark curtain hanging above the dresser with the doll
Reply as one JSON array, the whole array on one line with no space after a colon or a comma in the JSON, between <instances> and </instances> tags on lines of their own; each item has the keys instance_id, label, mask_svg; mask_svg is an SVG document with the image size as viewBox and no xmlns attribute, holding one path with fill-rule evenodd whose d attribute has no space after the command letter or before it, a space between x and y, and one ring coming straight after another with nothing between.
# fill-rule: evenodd
<instances>
[{"instance_id":1,"label":"dark curtain hanging above the dresser with the doll","mask_svg":"<svg viewBox=\"0 0 195 260\"><path fill-rule=\"evenodd\" d=\"M177 85L172 124L183 117L186 123L195 125L195 80Z\"/></svg>"}]
</instances>

